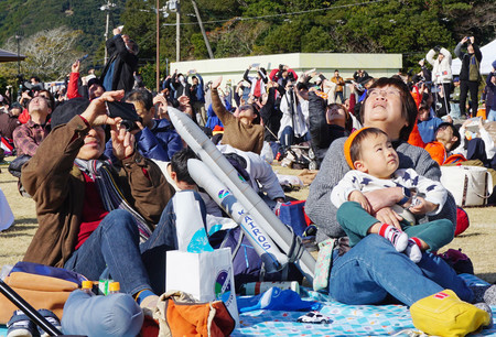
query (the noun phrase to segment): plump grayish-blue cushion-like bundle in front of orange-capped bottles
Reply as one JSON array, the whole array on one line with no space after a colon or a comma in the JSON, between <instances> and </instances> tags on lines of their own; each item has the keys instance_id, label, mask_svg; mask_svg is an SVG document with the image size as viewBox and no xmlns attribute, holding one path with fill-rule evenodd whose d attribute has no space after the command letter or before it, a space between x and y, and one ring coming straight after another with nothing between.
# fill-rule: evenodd
<instances>
[{"instance_id":1,"label":"plump grayish-blue cushion-like bundle in front of orange-capped bottles","mask_svg":"<svg viewBox=\"0 0 496 337\"><path fill-rule=\"evenodd\" d=\"M136 337L142 324L143 313L131 295L95 295L87 289L71 293L62 317L65 335Z\"/></svg>"}]
</instances>

